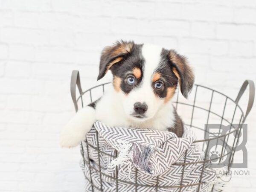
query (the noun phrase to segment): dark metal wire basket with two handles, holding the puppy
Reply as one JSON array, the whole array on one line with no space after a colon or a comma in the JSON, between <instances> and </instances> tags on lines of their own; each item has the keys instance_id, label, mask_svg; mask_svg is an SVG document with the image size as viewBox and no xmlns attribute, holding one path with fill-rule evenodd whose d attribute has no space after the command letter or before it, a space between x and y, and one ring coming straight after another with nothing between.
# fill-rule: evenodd
<instances>
[{"instance_id":1,"label":"dark metal wire basket with two handles, holding the puppy","mask_svg":"<svg viewBox=\"0 0 256 192\"><path fill-rule=\"evenodd\" d=\"M249 85L249 99L248 99L246 112L244 113L238 103L241 96L244 94L244 91L246 90L247 85ZM104 93L105 89L108 86L110 86L110 83L100 84L86 91L82 91L79 71L74 70L71 77L71 96L72 96L72 100L75 105L76 111L78 111L79 105L81 105L81 107L86 106L90 104L90 102L93 102L96 99L98 99L100 96L102 96L102 94ZM78 97L76 96L76 87L78 87L78 93L79 93ZM173 103L177 108L178 114L182 117L184 124L186 126L193 128L195 132L197 132L196 133L197 136L200 137L201 135L202 137L200 140L194 141L195 143L198 143L198 145L201 146L201 148L205 153L205 157L203 161L193 162L193 163L201 163L203 165L200 181L198 183L193 184L198 186L197 188L198 191L200 189L200 185L203 183L202 175L203 175L204 167L206 163L209 163L212 161L221 162L221 160L225 158L228 162L227 163L228 170L230 170L230 168L232 167L233 161L234 161L234 154L239 144L239 135L241 135L242 125L244 125L245 119L253 106L254 93L255 93L255 88L254 88L253 81L246 80L242 84L241 89L239 90L239 93L235 100L231 99L229 96L224 95L223 93L220 93L209 87L204 87L198 84L195 84L195 87L191 93L191 96L193 97L193 99L191 99L192 102L189 102L189 100L186 100L186 99L183 99L183 97L180 97L179 93L176 94L176 98L173 101ZM217 131L209 131L209 129L207 128L209 124L216 124L216 125L227 124L230 126L229 126L229 130L226 133L222 134L221 126ZM235 124L237 125L235 126ZM206 137L206 135L208 135L208 137ZM103 151L99 150L99 145L92 146L88 144L87 139L83 143L86 144L87 151L88 151L88 148L93 148L94 150L98 151L98 156L100 153L104 153ZM96 141L96 143L98 143L98 141ZM217 146L219 147L219 154L213 159L209 158L210 143L216 143L215 150ZM219 146L219 143L221 143L220 146ZM84 151L81 150L81 154L84 157ZM116 151L116 154L117 154L117 151ZM89 156L89 154L85 154L85 155ZM186 161L186 157L185 157L185 161ZM102 174L104 174L101 172L100 164L99 164L99 170L98 170L98 169L95 169L93 166L91 166L90 162L87 162L87 160L85 159L84 159L84 163L89 166L90 171L91 169L94 169L96 172L99 172L100 178L102 177ZM187 164L188 163L184 162L184 163L177 164L177 166L184 167ZM117 172L118 172L118 168L116 167L116 173ZM136 170L136 175L137 175L137 170ZM108 175L105 175L105 176L110 177ZM97 189L97 191L103 191L102 183L101 183L101 187L99 188L93 185L93 180L91 178L86 177L86 179L91 183L92 191L95 191L95 189ZM116 181L116 192L119 191L118 183L122 183L122 182L127 183L127 181L118 179L118 175L116 178L112 178L112 179ZM141 186L141 184L137 183L137 177L135 178L135 183L129 182L129 184L134 185L135 192L137 192L137 186L139 185ZM145 186L148 187L148 185L145 185ZM176 185L176 186L157 186L156 185L156 186L150 186L150 187L154 188L155 191L157 191L162 187L164 187L165 189L179 188L181 191L181 189L186 186L188 185L183 184L183 174L182 174L180 185Z\"/></svg>"}]
</instances>

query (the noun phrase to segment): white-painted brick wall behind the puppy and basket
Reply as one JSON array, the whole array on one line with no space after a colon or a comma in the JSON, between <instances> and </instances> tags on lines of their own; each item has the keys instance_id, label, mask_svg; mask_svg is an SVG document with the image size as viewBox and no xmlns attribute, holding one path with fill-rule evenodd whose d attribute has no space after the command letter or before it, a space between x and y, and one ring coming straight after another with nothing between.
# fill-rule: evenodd
<instances>
[{"instance_id":1,"label":"white-painted brick wall behind the puppy and basket","mask_svg":"<svg viewBox=\"0 0 256 192\"><path fill-rule=\"evenodd\" d=\"M58 145L74 114L70 75L96 84L101 49L121 38L177 49L198 84L232 98L256 81L255 0L0 0L1 192L83 191L79 148ZM256 189L255 116L250 176L233 178L233 192Z\"/></svg>"}]
</instances>

